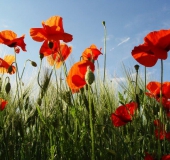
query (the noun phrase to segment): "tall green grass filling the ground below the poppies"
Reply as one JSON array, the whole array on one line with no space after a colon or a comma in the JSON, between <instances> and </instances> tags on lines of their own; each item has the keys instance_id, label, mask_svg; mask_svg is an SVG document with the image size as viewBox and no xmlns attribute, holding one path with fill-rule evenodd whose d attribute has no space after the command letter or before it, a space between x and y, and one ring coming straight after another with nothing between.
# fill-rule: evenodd
<instances>
[{"instance_id":1,"label":"tall green grass filling the ground below the poppies","mask_svg":"<svg viewBox=\"0 0 170 160\"><path fill-rule=\"evenodd\" d=\"M121 91L107 76L103 83L96 71L90 90L85 86L75 94L70 92L65 79L61 80L63 77L57 75L60 81L56 80L55 74L50 77L51 70L40 74L41 87L36 75L28 86L16 82L18 91L12 85L8 94L5 89L7 80L3 76L0 96L7 99L8 105L0 112L0 159L91 159L89 105L95 159L140 160L145 152L168 154L170 143L157 140L154 135L153 121L159 118L160 106L145 96L144 80L140 75L137 83L140 105L133 121L122 127L113 126L111 113L121 104L136 101L135 69L124 68L124 71L125 81L119 83ZM169 125L166 118L165 124L166 127Z\"/></svg>"}]
</instances>

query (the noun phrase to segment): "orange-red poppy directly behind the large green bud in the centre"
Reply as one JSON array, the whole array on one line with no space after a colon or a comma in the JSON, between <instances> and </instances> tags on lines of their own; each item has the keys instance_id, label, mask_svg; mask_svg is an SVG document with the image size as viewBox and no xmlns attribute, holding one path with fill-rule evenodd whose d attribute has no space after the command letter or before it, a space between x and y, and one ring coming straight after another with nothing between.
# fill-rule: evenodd
<instances>
[{"instance_id":1,"label":"orange-red poppy directly behind the large green bud in the centre","mask_svg":"<svg viewBox=\"0 0 170 160\"><path fill-rule=\"evenodd\" d=\"M78 92L80 88L86 85L85 74L87 72L88 66L90 67L91 71L94 72L94 64L86 60L77 62L71 67L67 76L67 84L73 93Z\"/></svg>"}]
</instances>

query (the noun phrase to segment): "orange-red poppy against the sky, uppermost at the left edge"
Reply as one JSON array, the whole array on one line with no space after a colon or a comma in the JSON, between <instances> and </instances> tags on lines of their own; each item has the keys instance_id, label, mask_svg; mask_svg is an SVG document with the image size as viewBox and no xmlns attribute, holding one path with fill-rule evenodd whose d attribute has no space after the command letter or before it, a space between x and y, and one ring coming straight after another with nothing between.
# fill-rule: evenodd
<instances>
[{"instance_id":1,"label":"orange-red poppy against the sky, uppermost at the left edge","mask_svg":"<svg viewBox=\"0 0 170 160\"><path fill-rule=\"evenodd\" d=\"M8 47L21 47L23 51L26 51L26 44L24 43L25 35L17 38L17 34L10 30L0 32L0 43L7 45Z\"/></svg>"}]
</instances>

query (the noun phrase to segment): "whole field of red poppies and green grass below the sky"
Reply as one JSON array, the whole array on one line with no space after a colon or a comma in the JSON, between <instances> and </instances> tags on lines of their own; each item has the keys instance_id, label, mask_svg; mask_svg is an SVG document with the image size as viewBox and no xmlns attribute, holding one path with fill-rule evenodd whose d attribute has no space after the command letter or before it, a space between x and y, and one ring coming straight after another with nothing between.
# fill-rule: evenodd
<instances>
[{"instance_id":1,"label":"whole field of red poppies and green grass below the sky","mask_svg":"<svg viewBox=\"0 0 170 160\"><path fill-rule=\"evenodd\" d=\"M143 44L136 44L130 54L140 66L132 66L132 72L125 69L126 82L119 82L119 91L106 75L105 22L103 27L104 47L91 44L71 68L66 61L74 51L67 43L74 38L65 32L62 17L52 16L42 28L30 28L31 38L42 45L40 65L26 62L38 67L36 81L27 87L22 82L26 66L19 73L17 65L20 52L27 51L25 35L0 31L0 45L14 51L0 58L0 159L170 160L170 82L163 81L170 30L150 32ZM43 70L44 61L50 69ZM147 68L158 61L161 81L148 82Z\"/></svg>"}]
</instances>

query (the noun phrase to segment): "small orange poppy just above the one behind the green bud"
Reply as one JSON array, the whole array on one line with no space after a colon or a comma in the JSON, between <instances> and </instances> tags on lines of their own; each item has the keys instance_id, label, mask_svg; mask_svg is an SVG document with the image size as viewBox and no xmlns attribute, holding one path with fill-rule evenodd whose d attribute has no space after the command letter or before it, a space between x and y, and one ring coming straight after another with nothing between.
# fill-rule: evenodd
<instances>
[{"instance_id":1,"label":"small orange poppy just above the one behind the green bud","mask_svg":"<svg viewBox=\"0 0 170 160\"><path fill-rule=\"evenodd\" d=\"M102 54L101 48L99 50L94 44L92 44L89 48L86 48L85 51L82 53L82 58L83 60L93 61L97 60L100 54Z\"/></svg>"}]
</instances>

